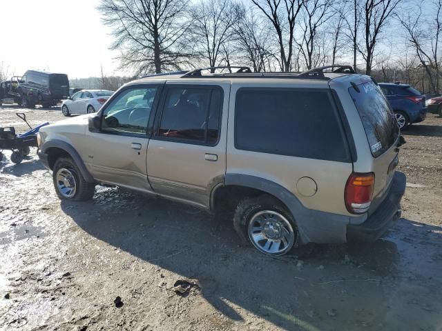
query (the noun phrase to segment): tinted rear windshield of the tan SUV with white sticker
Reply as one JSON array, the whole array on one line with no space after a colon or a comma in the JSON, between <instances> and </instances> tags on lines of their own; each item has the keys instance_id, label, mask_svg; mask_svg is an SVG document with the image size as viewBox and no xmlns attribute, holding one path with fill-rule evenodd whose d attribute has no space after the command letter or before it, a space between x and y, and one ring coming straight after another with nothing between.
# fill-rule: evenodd
<instances>
[{"instance_id":1,"label":"tinted rear windshield of the tan SUV with white sticker","mask_svg":"<svg viewBox=\"0 0 442 331\"><path fill-rule=\"evenodd\" d=\"M388 150L399 135L396 117L381 90L372 81L349 88L353 102L361 117L370 150L378 157Z\"/></svg>"}]
</instances>

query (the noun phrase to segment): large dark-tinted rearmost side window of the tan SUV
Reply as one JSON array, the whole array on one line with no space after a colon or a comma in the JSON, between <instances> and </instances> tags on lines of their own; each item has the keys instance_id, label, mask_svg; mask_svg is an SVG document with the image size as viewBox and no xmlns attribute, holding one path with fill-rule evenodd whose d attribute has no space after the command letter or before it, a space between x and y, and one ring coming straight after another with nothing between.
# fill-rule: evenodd
<instances>
[{"instance_id":1,"label":"large dark-tinted rearmost side window of the tan SUV","mask_svg":"<svg viewBox=\"0 0 442 331\"><path fill-rule=\"evenodd\" d=\"M239 150L351 161L327 90L244 88L236 94L235 113Z\"/></svg>"}]
</instances>

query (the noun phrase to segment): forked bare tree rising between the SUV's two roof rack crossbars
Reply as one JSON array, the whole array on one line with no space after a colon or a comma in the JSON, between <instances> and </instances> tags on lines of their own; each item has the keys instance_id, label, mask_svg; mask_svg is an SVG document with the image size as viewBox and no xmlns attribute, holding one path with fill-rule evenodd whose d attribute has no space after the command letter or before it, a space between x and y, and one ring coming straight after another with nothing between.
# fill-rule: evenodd
<instances>
[{"instance_id":1,"label":"forked bare tree rising between the SUV's two roof rack crossbars","mask_svg":"<svg viewBox=\"0 0 442 331\"><path fill-rule=\"evenodd\" d=\"M291 70L296 18L305 0L251 0L269 19L278 36L280 69ZM288 36L286 33L288 32Z\"/></svg>"}]
</instances>

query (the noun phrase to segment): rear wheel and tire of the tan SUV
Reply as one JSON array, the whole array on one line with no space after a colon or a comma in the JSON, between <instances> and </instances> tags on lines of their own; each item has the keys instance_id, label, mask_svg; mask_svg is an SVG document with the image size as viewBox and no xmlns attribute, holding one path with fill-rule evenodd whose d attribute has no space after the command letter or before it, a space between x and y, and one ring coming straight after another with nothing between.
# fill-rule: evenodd
<instances>
[{"instance_id":1,"label":"rear wheel and tire of the tan SUV","mask_svg":"<svg viewBox=\"0 0 442 331\"><path fill-rule=\"evenodd\" d=\"M267 255L286 254L299 244L294 217L282 203L267 195L240 201L233 224L240 237Z\"/></svg>"}]
</instances>

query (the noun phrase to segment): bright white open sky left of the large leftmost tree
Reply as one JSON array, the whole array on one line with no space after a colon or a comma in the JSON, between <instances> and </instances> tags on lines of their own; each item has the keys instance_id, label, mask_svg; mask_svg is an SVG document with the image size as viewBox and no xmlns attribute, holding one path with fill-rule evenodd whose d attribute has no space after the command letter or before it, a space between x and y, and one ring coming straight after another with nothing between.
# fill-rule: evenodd
<instances>
[{"instance_id":1,"label":"bright white open sky left of the large leftmost tree","mask_svg":"<svg viewBox=\"0 0 442 331\"><path fill-rule=\"evenodd\" d=\"M0 63L16 75L26 70L99 77L117 70L113 38L96 7L99 0L0 0Z\"/></svg>"}]
</instances>

